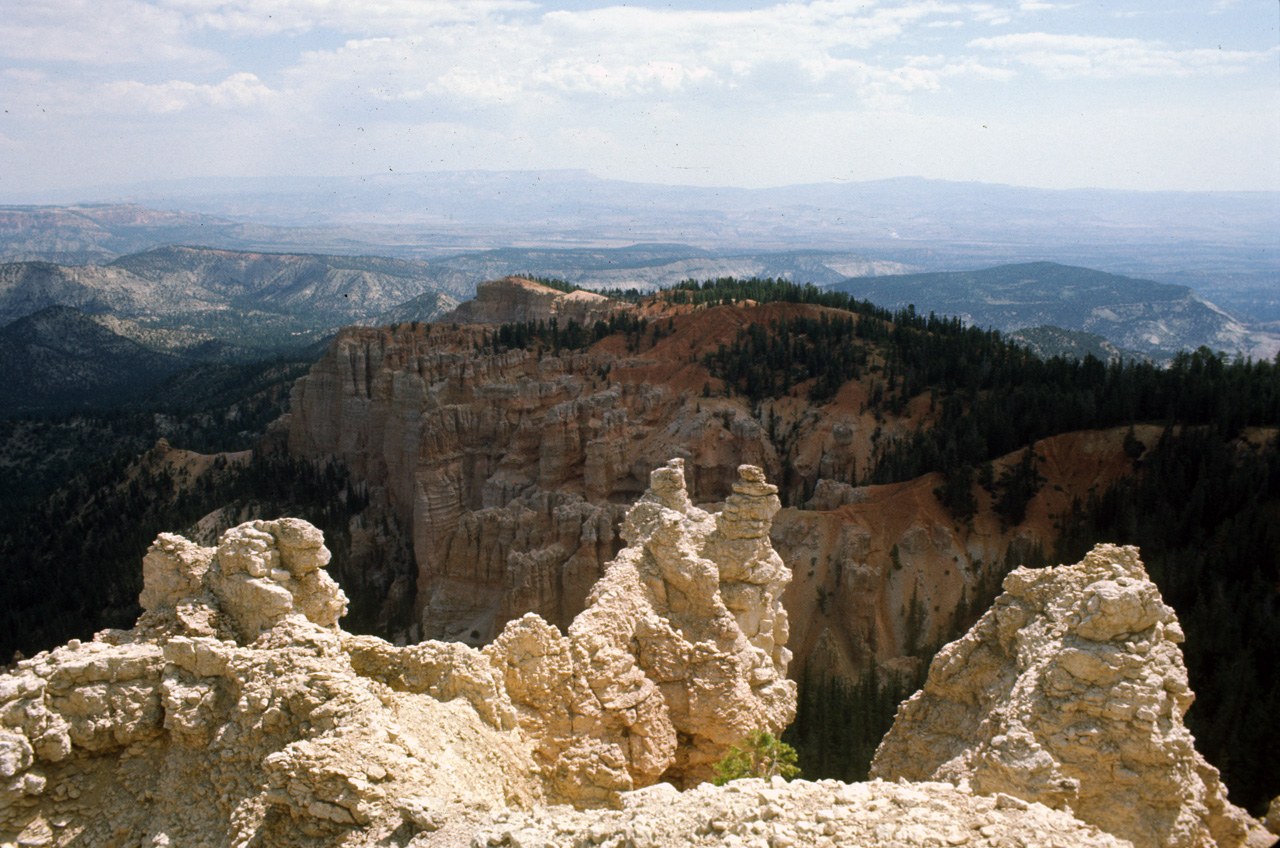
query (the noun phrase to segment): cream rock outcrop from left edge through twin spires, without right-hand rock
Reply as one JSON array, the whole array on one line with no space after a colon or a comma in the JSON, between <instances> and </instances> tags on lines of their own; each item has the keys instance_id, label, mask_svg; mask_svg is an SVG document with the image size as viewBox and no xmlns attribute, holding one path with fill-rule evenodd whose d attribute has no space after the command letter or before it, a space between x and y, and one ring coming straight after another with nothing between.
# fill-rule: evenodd
<instances>
[{"instance_id":1,"label":"cream rock outcrop from left edge through twin spires, without right-hand rock","mask_svg":"<svg viewBox=\"0 0 1280 848\"><path fill-rule=\"evenodd\" d=\"M133 630L0 678L0 844L372 845L696 783L795 713L776 489L740 478L713 515L680 460L655 470L568 634L526 615L483 652L343 633L306 521L161 534Z\"/></svg>"}]
</instances>

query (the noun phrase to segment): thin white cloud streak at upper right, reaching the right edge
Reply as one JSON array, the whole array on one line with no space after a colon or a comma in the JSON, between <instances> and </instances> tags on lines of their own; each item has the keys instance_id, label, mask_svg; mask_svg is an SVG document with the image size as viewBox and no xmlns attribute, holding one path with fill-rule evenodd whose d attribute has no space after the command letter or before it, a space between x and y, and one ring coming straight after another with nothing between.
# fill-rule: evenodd
<instances>
[{"instance_id":1,"label":"thin white cloud streak at upper right, reaching the right edge","mask_svg":"<svg viewBox=\"0 0 1280 848\"><path fill-rule=\"evenodd\" d=\"M1046 32L974 38L970 47L991 50L1046 77L1190 77L1248 70L1277 50L1172 50L1156 41Z\"/></svg>"}]
</instances>

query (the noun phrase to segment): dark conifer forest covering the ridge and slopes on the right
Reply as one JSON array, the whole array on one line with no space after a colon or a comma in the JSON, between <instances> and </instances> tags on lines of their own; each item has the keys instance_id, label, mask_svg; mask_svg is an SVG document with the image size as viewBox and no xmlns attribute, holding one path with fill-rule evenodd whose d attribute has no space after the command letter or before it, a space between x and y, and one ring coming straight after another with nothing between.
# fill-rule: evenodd
<instances>
[{"instance_id":1,"label":"dark conifer forest covering the ridge and slopes on the right","mask_svg":"<svg viewBox=\"0 0 1280 848\"><path fill-rule=\"evenodd\" d=\"M997 496L1001 519L1018 525L1038 488L1029 446L1039 439L1164 424L1155 446L1126 439L1133 474L1106 492L1078 493L1052 559L1075 562L1097 542L1142 550L1187 633L1184 656L1198 698L1188 725L1199 749L1222 771L1236 803L1260 812L1280 794L1274 767L1280 742L1271 733L1280 715L1280 357L1229 359L1199 348L1167 368L1092 356L1044 360L959 319L911 307L890 313L778 281L690 283L667 296L846 311L746 325L705 364L754 402L808 384L808 398L820 404L859 378L870 380L868 406L878 416L900 415L927 396L931 415L908 438L881 441L860 482L941 473L937 496L957 520L973 516L974 487L984 485ZM1242 438L1248 428L1257 428L1260 443ZM991 461L1020 448L1020 461L993 479ZM996 588L979 594L954 616L952 637L984 611ZM936 649L920 653L925 665ZM897 701L920 681L876 670L859 680L803 675L788 739L806 776L864 776Z\"/></svg>"}]
</instances>

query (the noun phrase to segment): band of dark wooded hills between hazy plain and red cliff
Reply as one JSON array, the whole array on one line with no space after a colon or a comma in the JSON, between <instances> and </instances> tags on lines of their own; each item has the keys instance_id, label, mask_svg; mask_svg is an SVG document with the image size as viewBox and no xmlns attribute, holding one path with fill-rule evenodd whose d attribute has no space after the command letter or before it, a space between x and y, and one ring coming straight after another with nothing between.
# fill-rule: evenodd
<instances>
[{"instance_id":1,"label":"band of dark wooded hills between hazy plain and red cliff","mask_svg":"<svg viewBox=\"0 0 1280 848\"><path fill-rule=\"evenodd\" d=\"M0 352L14 377L0 409L14 415L128 401L197 363L296 352L349 324L430 322L485 279L530 274L640 291L689 278L814 282L891 309L910 304L1024 330L1025 343L1046 356L1167 360L1208 346L1270 359L1280 348L1280 337L1184 286L1055 263L904 270L838 251L716 255L684 245L502 249L433 261L163 246L102 265L9 263L0 265L0 322L8 323Z\"/></svg>"}]
</instances>

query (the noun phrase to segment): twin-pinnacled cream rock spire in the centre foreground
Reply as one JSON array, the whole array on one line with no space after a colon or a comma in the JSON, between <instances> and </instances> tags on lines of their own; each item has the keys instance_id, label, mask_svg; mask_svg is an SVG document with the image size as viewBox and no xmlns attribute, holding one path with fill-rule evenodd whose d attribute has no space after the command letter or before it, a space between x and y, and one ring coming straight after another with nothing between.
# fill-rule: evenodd
<instances>
[{"instance_id":1,"label":"twin-pinnacled cream rock spire in the centre foreground","mask_svg":"<svg viewBox=\"0 0 1280 848\"><path fill-rule=\"evenodd\" d=\"M590 806L658 780L694 785L728 746L795 716L791 575L768 539L777 489L755 466L739 474L712 515L690 502L682 460L655 469L568 635L527 615L485 648L539 740L550 797Z\"/></svg>"}]
</instances>

